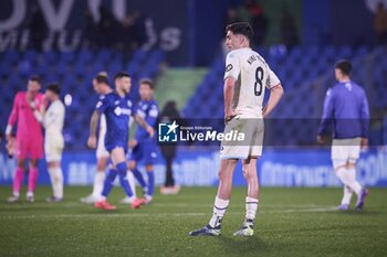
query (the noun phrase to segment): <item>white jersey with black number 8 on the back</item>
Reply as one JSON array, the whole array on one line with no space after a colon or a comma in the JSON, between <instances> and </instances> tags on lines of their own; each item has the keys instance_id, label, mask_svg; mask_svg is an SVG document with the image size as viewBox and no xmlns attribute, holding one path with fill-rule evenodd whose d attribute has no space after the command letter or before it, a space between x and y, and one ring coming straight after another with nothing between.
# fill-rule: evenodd
<instances>
[{"instance_id":1,"label":"white jersey with black number 8 on the back","mask_svg":"<svg viewBox=\"0 0 387 257\"><path fill-rule=\"evenodd\" d=\"M224 79L237 81L231 108L242 116L261 118L265 87L281 82L264 58L251 49L231 51L226 60Z\"/></svg>"}]
</instances>

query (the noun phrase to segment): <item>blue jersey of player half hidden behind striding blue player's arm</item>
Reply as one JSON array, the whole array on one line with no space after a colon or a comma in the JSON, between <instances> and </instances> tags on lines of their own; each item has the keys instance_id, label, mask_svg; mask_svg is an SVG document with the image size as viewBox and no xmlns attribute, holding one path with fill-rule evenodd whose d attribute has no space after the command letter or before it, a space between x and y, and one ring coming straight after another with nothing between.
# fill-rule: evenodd
<instances>
[{"instance_id":1,"label":"blue jersey of player half hidden behind striding blue player's arm","mask_svg":"<svg viewBox=\"0 0 387 257\"><path fill-rule=\"evenodd\" d=\"M140 100L136 106L136 114L153 128L155 128L158 117L158 105L156 100ZM136 140L143 141L149 139L149 133L142 126L137 127Z\"/></svg>"}]
</instances>

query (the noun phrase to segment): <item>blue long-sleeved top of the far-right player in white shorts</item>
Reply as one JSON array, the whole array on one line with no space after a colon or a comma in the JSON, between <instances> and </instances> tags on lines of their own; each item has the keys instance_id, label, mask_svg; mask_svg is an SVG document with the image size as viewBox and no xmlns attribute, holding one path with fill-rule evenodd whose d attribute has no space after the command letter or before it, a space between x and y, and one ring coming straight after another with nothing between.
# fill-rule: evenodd
<instances>
[{"instance_id":1,"label":"blue long-sleeved top of the far-right player in white shorts","mask_svg":"<svg viewBox=\"0 0 387 257\"><path fill-rule=\"evenodd\" d=\"M336 139L368 137L368 101L360 86L346 82L327 90L318 135L327 133L332 122Z\"/></svg>"}]
</instances>

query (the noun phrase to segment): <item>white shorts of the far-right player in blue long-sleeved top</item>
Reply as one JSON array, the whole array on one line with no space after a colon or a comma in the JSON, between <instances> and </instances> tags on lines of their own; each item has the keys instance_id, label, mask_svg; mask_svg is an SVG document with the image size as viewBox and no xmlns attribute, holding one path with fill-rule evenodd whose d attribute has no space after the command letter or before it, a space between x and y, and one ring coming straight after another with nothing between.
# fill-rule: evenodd
<instances>
[{"instance_id":1,"label":"white shorts of the far-right player in blue long-sleeved top","mask_svg":"<svg viewBox=\"0 0 387 257\"><path fill-rule=\"evenodd\" d=\"M360 156L360 138L334 139L331 158L343 163L355 163Z\"/></svg>"}]
</instances>

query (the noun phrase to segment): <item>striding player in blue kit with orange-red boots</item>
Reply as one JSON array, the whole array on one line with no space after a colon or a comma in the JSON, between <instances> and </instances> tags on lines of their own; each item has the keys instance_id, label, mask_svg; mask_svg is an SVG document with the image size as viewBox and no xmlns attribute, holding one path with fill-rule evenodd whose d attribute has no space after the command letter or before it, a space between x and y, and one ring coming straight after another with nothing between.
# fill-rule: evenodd
<instances>
[{"instance_id":1,"label":"striding player in blue kit with orange-red boots","mask_svg":"<svg viewBox=\"0 0 387 257\"><path fill-rule=\"evenodd\" d=\"M106 202L106 197L113 189L116 176L119 176L121 186L130 199L132 207L137 208L143 201L136 199L133 194L127 180L126 152L129 137L129 117L133 115L133 104L128 97L130 92L130 77L125 72L119 72L114 77L115 92L104 95L96 105L91 121L91 136L88 146L96 146L96 127L101 114L106 117L105 148L109 152L112 167L105 178L104 188L95 207L102 210L115 210L114 205ZM154 129L148 126L144 119L138 118L139 124L145 127L149 135L154 135Z\"/></svg>"}]
</instances>

